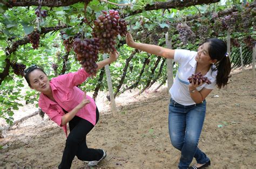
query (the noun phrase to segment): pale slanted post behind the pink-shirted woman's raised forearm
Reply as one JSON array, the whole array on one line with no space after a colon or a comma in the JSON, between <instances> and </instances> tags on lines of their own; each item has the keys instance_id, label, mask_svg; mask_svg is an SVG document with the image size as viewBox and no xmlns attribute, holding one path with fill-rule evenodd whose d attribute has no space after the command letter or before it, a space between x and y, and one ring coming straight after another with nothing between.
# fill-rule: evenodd
<instances>
[{"instance_id":1,"label":"pale slanted post behind the pink-shirted woman's raised forearm","mask_svg":"<svg viewBox=\"0 0 256 169\"><path fill-rule=\"evenodd\" d=\"M103 54L103 58L107 59L106 53ZM113 115L115 115L117 112L117 107L116 107L116 101L114 100L114 92L113 92L113 87L112 87L109 65L105 66L105 71L106 71L106 78L107 78L107 87L109 88L111 108L112 108Z\"/></svg>"}]
</instances>

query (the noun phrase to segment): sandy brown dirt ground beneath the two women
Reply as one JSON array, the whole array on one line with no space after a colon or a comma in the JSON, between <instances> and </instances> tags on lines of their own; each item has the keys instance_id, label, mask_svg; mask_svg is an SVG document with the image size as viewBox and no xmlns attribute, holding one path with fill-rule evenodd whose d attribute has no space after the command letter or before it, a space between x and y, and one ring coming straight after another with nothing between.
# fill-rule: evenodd
<instances>
[{"instance_id":1,"label":"sandy brown dirt ground beneath the two women","mask_svg":"<svg viewBox=\"0 0 256 169\"><path fill-rule=\"evenodd\" d=\"M256 168L255 81L252 69L233 72L226 89L215 89L208 95L199 148L211 158L210 168ZM116 115L105 96L98 99L100 119L87 136L89 147L107 153L97 167L177 168L180 152L170 143L167 88L137 97L134 94L136 91L117 98ZM15 118L36 110L34 105L26 105ZM57 168L60 163L65 134L47 117L33 116L4 136L0 138L0 168ZM72 168L88 167L75 158Z\"/></svg>"}]
</instances>

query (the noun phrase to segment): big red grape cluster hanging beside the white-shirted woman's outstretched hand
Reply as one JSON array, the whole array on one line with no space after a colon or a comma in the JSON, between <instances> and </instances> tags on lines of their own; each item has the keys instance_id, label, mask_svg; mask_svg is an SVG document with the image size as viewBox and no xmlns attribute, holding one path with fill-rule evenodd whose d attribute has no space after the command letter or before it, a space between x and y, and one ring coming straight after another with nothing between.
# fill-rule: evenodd
<instances>
[{"instance_id":1,"label":"big red grape cluster hanging beside the white-shirted woman's outstretched hand","mask_svg":"<svg viewBox=\"0 0 256 169\"><path fill-rule=\"evenodd\" d=\"M118 34L125 36L127 33L127 24L125 20L119 20L119 13L115 10L109 10L109 13L102 11L98 19L94 21L93 36L99 39L102 53L110 53L116 51L114 45Z\"/></svg>"}]
</instances>

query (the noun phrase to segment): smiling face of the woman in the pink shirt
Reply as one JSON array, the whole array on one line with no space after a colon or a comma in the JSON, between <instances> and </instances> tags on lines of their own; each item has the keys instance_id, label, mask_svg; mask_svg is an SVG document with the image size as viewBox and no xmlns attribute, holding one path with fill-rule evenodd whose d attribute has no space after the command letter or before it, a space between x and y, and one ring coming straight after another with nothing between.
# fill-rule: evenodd
<instances>
[{"instance_id":1,"label":"smiling face of the woman in the pink shirt","mask_svg":"<svg viewBox=\"0 0 256 169\"><path fill-rule=\"evenodd\" d=\"M45 93L51 90L48 77L44 72L35 69L29 74L30 88Z\"/></svg>"}]
</instances>

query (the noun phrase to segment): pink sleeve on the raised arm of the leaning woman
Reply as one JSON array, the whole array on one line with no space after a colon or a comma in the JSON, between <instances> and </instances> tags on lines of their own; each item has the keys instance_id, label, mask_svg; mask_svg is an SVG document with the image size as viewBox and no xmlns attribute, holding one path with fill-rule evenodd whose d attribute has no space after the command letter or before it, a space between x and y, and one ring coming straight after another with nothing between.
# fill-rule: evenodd
<instances>
[{"instance_id":1,"label":"pink sleeve on the raised arm of the leaning woman","mask_svg":"<svg viewBox=\"0 0 256 169\"><path fill-rule=\"evenodd\" d=\"M63 83L66 87L72 88L83 83L89 76L90 74L81 68L77 72L60 75L55 80Z\"/></svg>"}]
</instances>

